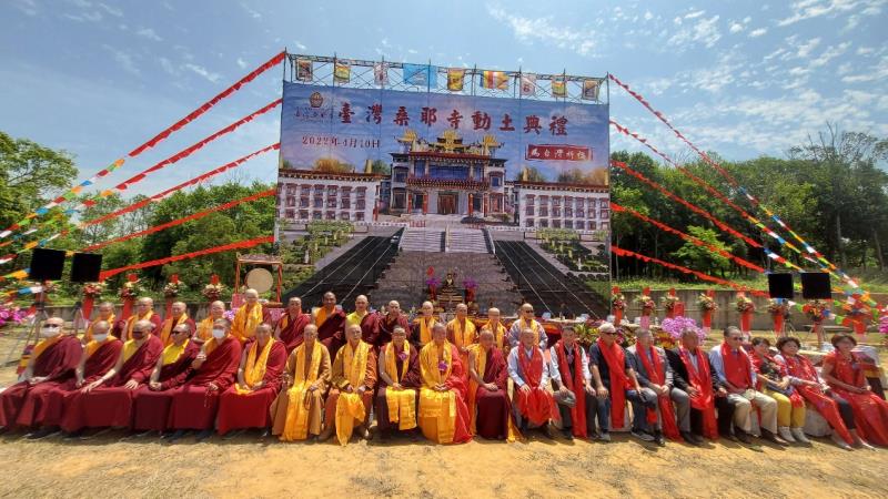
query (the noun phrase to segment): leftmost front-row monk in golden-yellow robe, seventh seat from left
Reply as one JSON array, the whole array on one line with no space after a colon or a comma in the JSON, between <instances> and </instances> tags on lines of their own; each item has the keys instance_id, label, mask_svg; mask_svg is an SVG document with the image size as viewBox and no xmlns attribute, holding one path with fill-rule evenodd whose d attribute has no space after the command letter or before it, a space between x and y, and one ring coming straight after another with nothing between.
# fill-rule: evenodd
<instances>
[{"instance_id":1,"label":"leftmost front-row monk in golden-yellow robe, seventh seat from left","mask_svg":"<svg viewBox=\"0 0 888 499\"><path fill-rule=\"evenodd\" d=\"M324 397L330 386L330 353L317 340L317 326L309 324L304 340L286 359L283 389L271 405L272 435L281 441L317 440ZM310 437L311 436L311 437Z\"/></svg>"}]
</instances>

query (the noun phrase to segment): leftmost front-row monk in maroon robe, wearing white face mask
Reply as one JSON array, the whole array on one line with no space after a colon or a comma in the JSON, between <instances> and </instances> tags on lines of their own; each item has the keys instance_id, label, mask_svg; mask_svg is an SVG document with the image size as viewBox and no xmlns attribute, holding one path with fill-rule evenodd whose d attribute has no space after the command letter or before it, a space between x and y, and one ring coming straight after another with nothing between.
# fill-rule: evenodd
<instances>
[{"instance_id":1,"label":"leftmost front-row monk in maroon robe, wearing white face mask","mask_svg":"<svg viewBox=\"0 0 888 499\"><path fill-rule=\"evenodd\" d=\"M37 422L49 393L73 378L83 347L77 336L63 330L64 322L52 317L40 329L21 381L0 393L0 428L30 428Z\"/></svg>"}]
</instances>

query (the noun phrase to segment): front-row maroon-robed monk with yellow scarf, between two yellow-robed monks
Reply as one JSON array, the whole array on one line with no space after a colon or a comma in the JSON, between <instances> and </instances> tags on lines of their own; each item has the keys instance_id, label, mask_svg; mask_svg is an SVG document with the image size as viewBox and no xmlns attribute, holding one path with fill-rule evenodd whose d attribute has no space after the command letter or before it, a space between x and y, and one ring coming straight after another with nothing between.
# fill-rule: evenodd
<instances>
[{"instance_id":1,"label":"front-row maroon-robed monk with yellow scarf, between two yellow-robed monks","mask_svg":"<svg viewBox=\"0 0 888 499\"><path fill-rule=\"evenodd\" d=\"M392 334L392 343L383 345L380 350L377 369L380 384L375 397L376 427L380 429L380 438L383 440L401 428L405 431L416 428L420 404L420 350L407 342L407 329L398 326ZM389 414L387 390L413 391L412 418L396 415L397 417L392 421Z\"/></svg>"}]
</instances>

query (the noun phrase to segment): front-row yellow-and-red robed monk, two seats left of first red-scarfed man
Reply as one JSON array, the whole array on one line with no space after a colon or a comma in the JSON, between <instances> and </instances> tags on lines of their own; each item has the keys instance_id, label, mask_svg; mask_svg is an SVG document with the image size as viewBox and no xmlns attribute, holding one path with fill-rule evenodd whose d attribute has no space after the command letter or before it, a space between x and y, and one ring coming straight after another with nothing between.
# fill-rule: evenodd
<instances>
[{"instance_id":1,"label":"front-row yellow-and-red robed monk, two seats left of first red-scarfed man","mask_svg":"<svg viewBox=\"0 0 888 499\"><path fill-rule=\"evenodd\" d=\"M471 440L465 368L441 323L432 328L432 342L420 352L420 375L418 422L425 438L438 444Z\"/></svg>"}]
</instances>

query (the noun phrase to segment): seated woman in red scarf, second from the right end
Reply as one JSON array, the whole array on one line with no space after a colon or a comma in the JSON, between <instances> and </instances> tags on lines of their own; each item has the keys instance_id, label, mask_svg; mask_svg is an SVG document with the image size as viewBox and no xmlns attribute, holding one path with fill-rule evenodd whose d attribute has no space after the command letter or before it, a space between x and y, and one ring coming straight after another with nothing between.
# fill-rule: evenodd
<instances>
[{"instance_id":1,"label":"seated woman in red scarf, second from the right end","mask_svg":"<svg viewBox=\"0 0 888 499\"><path fill-rule=\"evenodd\" d=\"M851 450L850 446L870 447L857 435L851 405L844 398L830 397L834 394L817 374L814 364L798 355L800 347L798 338L793 336L777 340L780 354L775 359L786 365L793 386L833 427L833 441L837 446L846 450Z\"/></svg>"}]
</instances>

